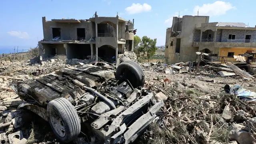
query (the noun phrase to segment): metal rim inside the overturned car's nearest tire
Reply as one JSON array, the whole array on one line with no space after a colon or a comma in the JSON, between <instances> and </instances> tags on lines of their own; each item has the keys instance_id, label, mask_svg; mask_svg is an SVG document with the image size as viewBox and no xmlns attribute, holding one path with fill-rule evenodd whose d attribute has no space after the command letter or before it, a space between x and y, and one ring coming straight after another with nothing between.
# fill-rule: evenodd
<instances>
[{"instance_id":1,"label":"metal rim inside the overturned car's nearest tire","mask_svg":"<svg viewBox=\"0 0 256 144\"><path fill-rule=\"evenodd\" d=\"M55 130L55 132L60 136L65 136L65 126L62 122L62 119L60 116L58 116L57 112L55 110L52 111L52 116L50 117L50 121L52 123L52 126Z\"/></svg>"}]
</instances>

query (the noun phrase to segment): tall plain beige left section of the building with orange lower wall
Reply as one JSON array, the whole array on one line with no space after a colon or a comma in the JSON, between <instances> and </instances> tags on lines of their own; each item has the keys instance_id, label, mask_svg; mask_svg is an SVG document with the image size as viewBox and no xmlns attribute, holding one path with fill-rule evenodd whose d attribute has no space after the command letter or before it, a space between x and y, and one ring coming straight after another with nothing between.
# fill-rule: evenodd
<instances>
[{"instance_id":1,"label":"tall plain beige left section of the building with orange lower wall","mask_svg":"<svg viewBox=\"0 0 256 144\"><path fill-rule=\"evenodd\" d=\"M194 47L194 31L202 23L209 22L209 16L183 16L181 22L177 22L177 17L173 18L173 26L178 27L181 32L176 37L171 36L172 28L166 30L166 53L169 63L188 62L196 58L198 47ZM177 26L178 25L178 26ZM170 46L173 42L172 46ZM169 48L170 47L170 48ZM168 54L168 56L167 56Z\"/></svg>"}]
</instances>

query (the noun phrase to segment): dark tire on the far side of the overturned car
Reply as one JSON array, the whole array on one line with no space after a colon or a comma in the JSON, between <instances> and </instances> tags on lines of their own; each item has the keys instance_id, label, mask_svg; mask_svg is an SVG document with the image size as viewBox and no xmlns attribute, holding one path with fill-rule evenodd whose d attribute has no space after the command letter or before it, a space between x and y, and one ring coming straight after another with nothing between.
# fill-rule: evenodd
<instances>
[{"instance_id":1,"label":"dark tire on the far side of the overturned car","mask_svg":"<svg viewBox=\"0 0 256 144\"><path fill-rule=\"evenodd\" d=\"M143 86L145 83L145 76L142 68L132 60L122 62L116 68L116 79L119 80L122 76L129 80L134 88Z\"/></svg>"}]
</instances>

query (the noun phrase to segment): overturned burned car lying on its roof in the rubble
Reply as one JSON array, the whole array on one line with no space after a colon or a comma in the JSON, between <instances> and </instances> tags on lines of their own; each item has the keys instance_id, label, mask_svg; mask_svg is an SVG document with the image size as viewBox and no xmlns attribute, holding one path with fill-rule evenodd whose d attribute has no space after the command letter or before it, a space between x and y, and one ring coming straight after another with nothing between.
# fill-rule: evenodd
<instances>
[{"instance_id":1,"label":"overturned burned car lying on its roof in the rubble","mask_svg":"<svg viewBox=\"0 0 256 144\"><path fill-rule=\"evenodd\" d=\"M48 121L62 142L86 134L92 143L129 144L164 106L143 85L141 67L125 61L116 71L92 64L66 67L14 89L24 100L19 108Z\"/></svg>"}]
</instances>

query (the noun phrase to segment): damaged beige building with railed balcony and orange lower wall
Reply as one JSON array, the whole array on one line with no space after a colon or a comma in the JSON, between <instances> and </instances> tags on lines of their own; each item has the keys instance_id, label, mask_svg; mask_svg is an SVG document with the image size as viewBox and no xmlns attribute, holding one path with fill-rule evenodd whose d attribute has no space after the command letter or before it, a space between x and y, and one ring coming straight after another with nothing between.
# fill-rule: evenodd
<instances>
[{"instance_id":1,"label":"damaged beige building with railed balcony and orange lower wall","mask_svg":"<svg viewBox=\"0 0 256 144\"><path fill-rule=\"evenodd\" d=\"M256 50L256 27L241 22L209 22L209 16L173 17L166 29L165 58L171 63L195 60L196 52L217 54L214 59ZM213 59L211 59L212 61Z\"/></svg>"}]
</instances>

